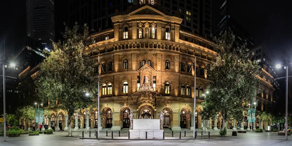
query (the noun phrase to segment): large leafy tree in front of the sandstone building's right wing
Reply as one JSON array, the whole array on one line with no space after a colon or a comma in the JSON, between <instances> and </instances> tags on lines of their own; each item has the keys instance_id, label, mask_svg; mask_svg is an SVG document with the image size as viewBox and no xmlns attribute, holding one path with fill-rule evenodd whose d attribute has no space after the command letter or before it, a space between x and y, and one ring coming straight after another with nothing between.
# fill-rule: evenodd
<instances>
[{"instance_id":1,"label":"large leafy tree in front of the sandstone building's right wing","mask_svg":"<svg viewBox=\"0 0 292 146\"><path fill-rule=\"evenodd\" d=\"M210 117L220 112L224 129L229 118L243 119L242 101L254 101L261 91L257 78L261 70L250 60L246 45L235 43L235 35L230 30L214 38L214 49L217 51L216 61L207 67L211 80L209 94L202 105Z\"/></svg>"}]
</instances>

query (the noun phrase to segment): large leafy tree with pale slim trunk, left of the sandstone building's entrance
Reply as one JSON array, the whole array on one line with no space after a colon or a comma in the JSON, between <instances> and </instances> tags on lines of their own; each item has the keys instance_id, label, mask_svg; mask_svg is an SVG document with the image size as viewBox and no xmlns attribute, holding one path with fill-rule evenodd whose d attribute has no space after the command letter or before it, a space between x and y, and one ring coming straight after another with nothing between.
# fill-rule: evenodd
<instances>
[{"instance_id":1,"label":"large leafy tree with pale slim trunk, left of the sandstone building's entrance","mask_svg":"<svg viewBox=\"0 0 292 146\"><path fill-rule=\"evenodd\" d=\"M36 84L39 97L47 98L50 106L57 101L57 106L68 113L68 136L72 136L71 117L75 110L91 102L96 82L94 61L86 52L92 43L88 27L84 26L83 33L79 33L77 24L73 29L66 27L63 37L64 41L54 43L54 49L41 63Z\"/></svg>"}]
</instances>

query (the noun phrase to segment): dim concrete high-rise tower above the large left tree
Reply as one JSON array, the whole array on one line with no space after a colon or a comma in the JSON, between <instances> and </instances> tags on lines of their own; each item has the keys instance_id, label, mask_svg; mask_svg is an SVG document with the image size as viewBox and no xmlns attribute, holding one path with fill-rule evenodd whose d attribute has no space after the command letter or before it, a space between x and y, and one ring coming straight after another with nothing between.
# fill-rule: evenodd
<instances>
[{"instance_id":1,"label":"dim concrete high-rise tower above the large left tree","mask_svg":"<svg viewBox=\"0 0 292 146\"><path fill-rule=\"evenodd\" d=\"M53 49L55 0L26 0L26 35Z\"/></svg>"}]
</instances>

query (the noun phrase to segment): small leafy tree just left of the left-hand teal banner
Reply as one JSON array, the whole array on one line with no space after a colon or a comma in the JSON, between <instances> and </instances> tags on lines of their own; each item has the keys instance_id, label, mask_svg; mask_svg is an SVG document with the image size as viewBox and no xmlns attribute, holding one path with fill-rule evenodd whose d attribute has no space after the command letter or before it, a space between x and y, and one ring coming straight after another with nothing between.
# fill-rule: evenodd
<instances>
[{"instance_id":1,"label":"small leafy tree just left of the left-hand teal banner","mask_svg":"<svg viewBox=\"0 0 292 146\"><path fill-rule=\"evenodd\" d=\"M22 117L26 123L32 122L36 118L35 108L33 106L24 106L18 109L18 117ZM33 125L33 123L31 123Z\"/></svg>"}]
</instances>

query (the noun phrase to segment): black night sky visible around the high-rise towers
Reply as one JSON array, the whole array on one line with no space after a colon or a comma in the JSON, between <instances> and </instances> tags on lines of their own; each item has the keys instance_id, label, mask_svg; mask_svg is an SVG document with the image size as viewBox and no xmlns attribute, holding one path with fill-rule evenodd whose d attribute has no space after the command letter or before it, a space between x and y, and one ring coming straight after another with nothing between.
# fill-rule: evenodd
<instances>
[{"instance_id":1,"label":"black night sky visible around the high-rise towers","mask_svg":"<svg viewBox=\"0 0 292 146\"><path fill-rule=\"evenodd\" d=\"M212 0L212 26L219 22L219 7L224 0ZM255 38L255 45L270 50L273 58L270 65L292 62L292 1L277 0L230 0L229 12ZM68 20L67 0L55 0L55 34L61 39L63 23ZM25 0L1 0L0 2L0 57L3 55L3 41L6 42L6 55L20 50L25 36ZM284 70L284 69L283 69ZM290 69L292 70L292 69ZM279 76L284 76L283 71ZM285 87L284 81L280 86ZM284 90L285 91L285 90Z\"/></svg>"}]
</instances>

